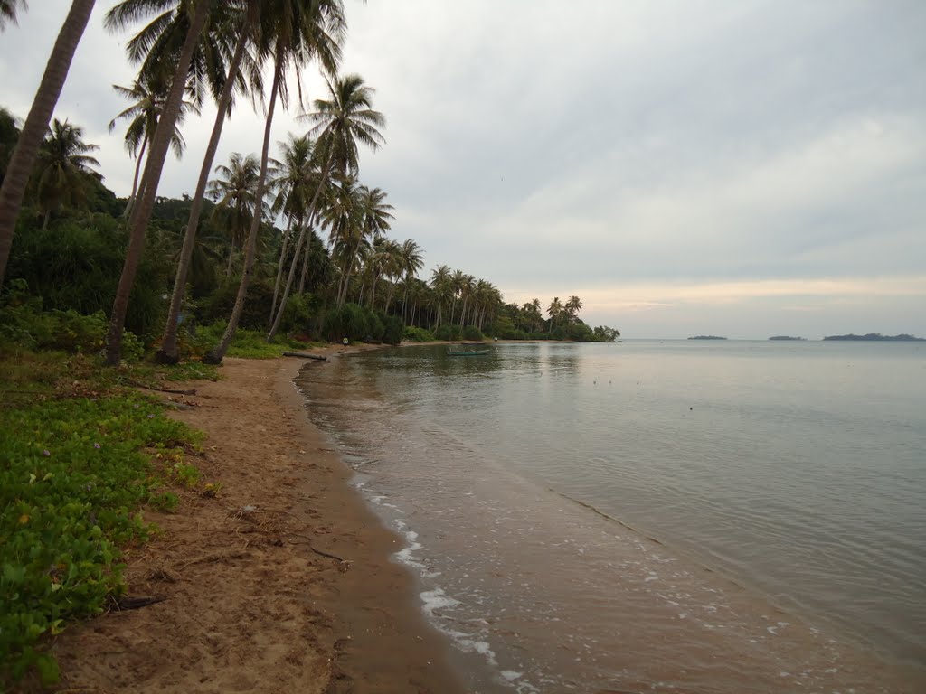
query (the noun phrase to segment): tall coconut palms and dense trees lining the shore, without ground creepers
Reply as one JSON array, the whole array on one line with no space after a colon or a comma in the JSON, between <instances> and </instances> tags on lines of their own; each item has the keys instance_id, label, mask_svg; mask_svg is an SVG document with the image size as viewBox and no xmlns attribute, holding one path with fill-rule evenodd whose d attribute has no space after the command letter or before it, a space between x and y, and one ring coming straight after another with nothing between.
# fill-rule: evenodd
<instances>
[{"instance_id":1,"label":"tall coconut palms and dense trees lining the shore, without ground creepers","mask_svg":"<svg viewBox=\"0 0 926 694\"><path fill-rule=\"evenodd\" d=\"M28 114L0 108L0 338L41 346L41 316L89 332L106 363L144 350L162 363L218 364L239 328L267 341L552 339L614 341L590 328L577 296L506 304L486 279L439 265L394 238L388 192L362 180L360 155L384 143L375 90L339 72L342 0L123 0L106 29L128 33L131 84L110 131L124 133L131 194L104 185L80 123L55 118L93 0L74 0ZM17 31L23 0L0 0ZM38 56L31 56L32 59ZM304 103L318 69L324 98ZM157 194L182 157L182 126L216 105L195 191ZM234 109L263 105L254 152L216 161ZM305 131L274 134L278 109ZM19 119L19 117L24 119ZM6 333L6 334L5 334Z\"/></svg>"}]
</instances>

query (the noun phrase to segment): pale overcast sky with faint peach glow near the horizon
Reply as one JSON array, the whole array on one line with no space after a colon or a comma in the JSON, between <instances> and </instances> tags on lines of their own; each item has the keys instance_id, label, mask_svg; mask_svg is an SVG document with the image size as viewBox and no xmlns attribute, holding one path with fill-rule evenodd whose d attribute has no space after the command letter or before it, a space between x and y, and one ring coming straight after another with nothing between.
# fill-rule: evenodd
<instances>
[{"instance_id":1,"label":"pale overcast sky with faint peach glow near the horizon","mask_svg":"<svg viewBox=\"0 0 926 694\"><path fill-rule=\"evenodd\" d=\"M112 5L56 116L127 195L133 162L106 125L126 105L111 85L134 73L129 36L103 29ZM68 7L30 0L0 34L0 105L20 117ZM926 337L926 2L345 7L342 72L387 119L360 180L388 193L423 279L447 265L544 309L576 295L586 323L627 338ZM312 70L303 90L308 110L325 96ZM275 142L307 130L297 113L275 118ZM213 118L187 121L159 194L193 192ZM262 133L242 101L217 164Z\"/></svg>"}]
</instances>

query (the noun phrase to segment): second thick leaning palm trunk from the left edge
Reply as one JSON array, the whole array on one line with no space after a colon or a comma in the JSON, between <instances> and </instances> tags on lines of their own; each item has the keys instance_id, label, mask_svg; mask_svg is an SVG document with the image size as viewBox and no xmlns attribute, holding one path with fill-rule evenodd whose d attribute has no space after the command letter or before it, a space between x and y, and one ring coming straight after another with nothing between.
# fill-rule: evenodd
<instances>
[{"instance_id":1,"label":"second thick leaning palm trunk from the left edge","mask_svg":"<svg viewBox=\"0 0 926 694\"><path fill-rule=\"evenodd\" d=\"M157 184L164 168L164 158L168 154L170 138L173 134L174 124L180 115L183 92L186 88L186 78L190 71L190 62L193 59L196 43L206 26L206 18L212 3L201 0L195 5L193 19L183 41L177 69L174 71L173 82L170 84L170 93L164 105L161 118L157 121L155 136L151 141L151 149L144 163L144 176L142 178L141 200L137 201L129 217L129 248L125 254L125 264L122 266L122 276L119 278L119 288L116 290L116 299L113 302L112 314L109 317L109 329L106 331L106 364L116 366L122 351L122 328L125 326L125 314L129 308L129 295L135 283L135 272L142 260L144 252L144 233L147 230L148 220L155 204Z\"/></svg>"}]
</instances>

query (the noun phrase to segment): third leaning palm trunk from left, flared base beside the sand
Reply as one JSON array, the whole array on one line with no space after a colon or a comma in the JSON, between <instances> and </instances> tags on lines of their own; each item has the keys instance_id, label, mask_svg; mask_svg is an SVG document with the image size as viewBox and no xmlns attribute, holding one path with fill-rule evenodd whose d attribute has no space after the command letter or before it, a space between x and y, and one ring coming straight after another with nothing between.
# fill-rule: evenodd
<instances>
[{"instance_id":1,"label":"third leaning palm trunk from left, flared base beside the sand","mask_svg":"<svg viewBox=\"0 0 926 694\"><path fill-rule=\"evenodd\" d=\"M209 137L206 155L203 157L203 166L199 169L199 180L196 182L193 204L190 205L190 217L187 219L186 233L183 235L183 247L181 248L180 259L177 261L177 277L174 278L173 293L170 295L167 325L164 326L161 348L155 356L156 361L160 364L176 364L179 360L180 355L177 353L177 325L180 320L183 296L186 294L186 279L190 274L190 261L193 258L193 249L196 245L196 229L199 227L199 217L203 211L203 199L206 197L206 185L209 181L209 173L212 170L212 162L215 160L216 152L219 149L219 139L222 136L222 127L225 125L225 115L228 113L229 105L232 103L235 79L238 77L238 69L241 68L241 61L244 58L244 47L247 45L250 36L250 31L248 31L250 26L251 23L245 21L241 35L238 37L238 45L234 49L232 64L229 66L228 76L219 96L219 111L216 113L216 122L212 126L212 135ZM229 273L231 271L230 254Z\"/></svg>"}]
</instances>

